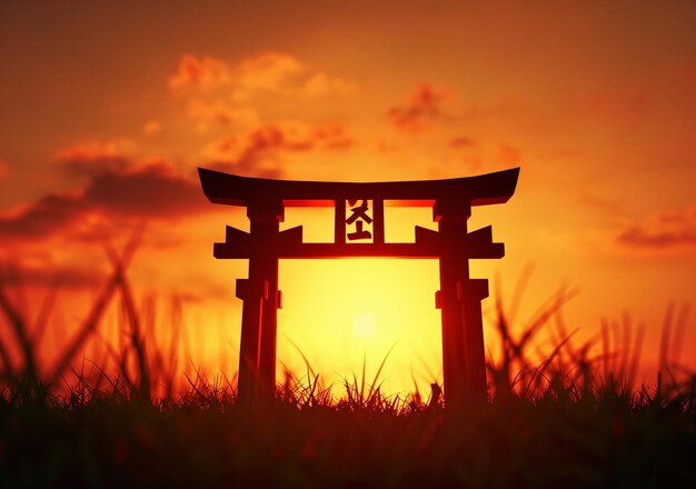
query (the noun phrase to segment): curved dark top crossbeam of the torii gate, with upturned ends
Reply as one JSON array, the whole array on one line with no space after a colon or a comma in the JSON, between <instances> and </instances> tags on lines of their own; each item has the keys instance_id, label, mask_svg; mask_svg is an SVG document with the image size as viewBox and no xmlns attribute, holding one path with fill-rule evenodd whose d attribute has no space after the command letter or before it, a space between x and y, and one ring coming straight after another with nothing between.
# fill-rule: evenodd
<instances>
[{"instance_id":1,"label":"curved dark top crossbeam of the torii gate, with upturned ends","mask_svg":"<svg viewBox=\"0 0 696 489\"><path fill-rule=\"evenodd\" d=\"M387 206L430 207L436 199L470 206L507 202L515 193L519 168L476 177L391 182L270 180L205 168L198 173L212 203L248 206L276 198L288 207L334 207L338 199L382 199Z\"/></svg>"}]
</instances>

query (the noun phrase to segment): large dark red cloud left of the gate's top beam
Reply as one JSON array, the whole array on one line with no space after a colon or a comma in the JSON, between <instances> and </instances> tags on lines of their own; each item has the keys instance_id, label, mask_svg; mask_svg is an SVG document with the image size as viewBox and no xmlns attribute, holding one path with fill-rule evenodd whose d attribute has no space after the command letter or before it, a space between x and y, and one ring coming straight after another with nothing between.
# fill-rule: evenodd
<instances>
[{"instance_id":1,"label":"large dark red cloud left of the gate's top beam","mask_svg":"<svg viewBox=\"0 0 696 489\"><path fill-rule=\"evenodd\" d=\"M210 210L198 182L178 176L163 161L122 167L92 160L95 169L84 187L66 194L49 194L0 216L0 239L41 239L93 214L137 219L167 219ZM120 159L118 161L121 161ZM69 167L69 171L73 171Z\"/></svg>"}]
</instances>

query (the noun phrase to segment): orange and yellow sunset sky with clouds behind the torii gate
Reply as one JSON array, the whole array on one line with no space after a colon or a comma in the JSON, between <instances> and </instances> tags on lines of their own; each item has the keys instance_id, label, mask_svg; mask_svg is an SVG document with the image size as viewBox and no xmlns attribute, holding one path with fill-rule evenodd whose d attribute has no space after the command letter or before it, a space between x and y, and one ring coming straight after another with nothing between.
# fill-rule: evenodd
<instances>
[{"instance_id":1,"label":"orange and yellow sunset sky with clouds behind the torii gate","mask_svg":"<svg viewBox=\"0 0 696 489\"><path fill-rule=\"evenodd\" d=\"M197 167L335 181L521 167L508 203L474 209L470 228L506 244L474 275L509 302L534 267L516 328L577 288L564 308L577 341L629 315L654 365L669 303L696 305L694 26L692 1L3 1L4 281L22 270L36 316L58 276L69 330L107 279L105 237L120 247L146 222L138 297L157 298L160 328L182 298L191 361L233 371L247 266L212 242L248 223L203 198ZM331 236L330 210L286 217L306 240ZM429 218L388 212L387 238ZM388 388L441 381L435 261L284 261L280 288L289 367L304 369L295 343L330 381L396 345ZM696 368L694 318L678 343ZM47 358L64 335L47 333Z\"/></svg>"}]
</instances>

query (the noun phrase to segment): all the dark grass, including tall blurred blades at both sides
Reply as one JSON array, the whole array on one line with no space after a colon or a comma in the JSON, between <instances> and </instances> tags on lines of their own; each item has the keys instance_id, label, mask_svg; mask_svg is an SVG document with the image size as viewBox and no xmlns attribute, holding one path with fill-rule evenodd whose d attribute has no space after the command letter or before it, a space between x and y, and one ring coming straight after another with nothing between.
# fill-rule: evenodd
<instances>
[{"instance_id":1,"label":"all the dark grass, including tall blurred blades at both sides","mask_svg":"<svg viewBox=\"0 0 696 489\"><path fill-rule=\"evenodd\" d=\"M52 299L29 325L0 287L11 333L0 338L0 487L696 487L696 377L668 361L686 320L672 309L655 386L635 385L642 330L605 326L593 356L563 323L573 292L560 291L523 328L498 298L485 403L445 410L437 383L385 396L365 370L337 398L308 363L249 407L235 379L200 371L175 395L175 349L146 335L126 277L137 241L108 248L112 276L51 369L36 346ZM117 368L80 362L119 297ZM543 328L555 342L537 355Z\"/></svg>"}]
</instances>

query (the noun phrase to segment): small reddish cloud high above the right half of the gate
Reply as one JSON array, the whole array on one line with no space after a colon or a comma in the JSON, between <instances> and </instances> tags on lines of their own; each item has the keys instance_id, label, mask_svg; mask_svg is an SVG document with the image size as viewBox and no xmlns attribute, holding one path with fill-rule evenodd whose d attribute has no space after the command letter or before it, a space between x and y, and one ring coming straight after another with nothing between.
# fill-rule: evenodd
<instances>
[{"instance_id":1,"label":"small reddish cloud high above the right half of the gate","mask_svg":"<svg viewBox=\"0 0 696 489\"><path fill-rule=\"evenodd\" d=\"M424 82L416 87L402 104L392 107L387 114L397 129L405 132L421 132L432 121L445 116L444 106L451 98L450 92Z\"/></svg>"}]
</instances>

